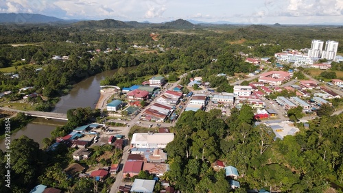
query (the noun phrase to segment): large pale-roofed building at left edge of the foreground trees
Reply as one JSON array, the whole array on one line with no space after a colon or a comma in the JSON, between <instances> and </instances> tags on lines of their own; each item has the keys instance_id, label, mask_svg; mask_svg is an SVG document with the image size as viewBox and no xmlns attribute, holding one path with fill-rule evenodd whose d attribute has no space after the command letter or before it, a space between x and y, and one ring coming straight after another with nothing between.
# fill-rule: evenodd
<instances>
[{"instance_id":1,"label":"large pale-roofed building at left edge of the foreground trees","mask_svg":"<svg viewBox=\"0 0 343 193\"><path fill-rule=\"evenodd\" d=\"M134 133L131 147L163 149L172 140L174 140L174 133Z\"/></svg>"}]
</instances>

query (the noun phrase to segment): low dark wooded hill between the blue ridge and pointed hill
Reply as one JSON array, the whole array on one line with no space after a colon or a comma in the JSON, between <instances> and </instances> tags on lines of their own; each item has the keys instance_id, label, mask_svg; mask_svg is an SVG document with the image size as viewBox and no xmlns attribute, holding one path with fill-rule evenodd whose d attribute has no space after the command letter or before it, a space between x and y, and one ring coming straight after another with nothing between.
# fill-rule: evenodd
<instances>
[{"instance_id":1,"label":"low dark wooded hill between the blue ridge and pointed hill","mask_svg":"<svg viewBox=\"0 0 343 193\"><path fill-rule=\"evenodd\" d=\"M123 21L117 21L114 19L104 19L99 21L79 21L73 23L75 27L88 27L88 28L130 28L132 26L124 23Z\"/></svg>"}]
</instances>

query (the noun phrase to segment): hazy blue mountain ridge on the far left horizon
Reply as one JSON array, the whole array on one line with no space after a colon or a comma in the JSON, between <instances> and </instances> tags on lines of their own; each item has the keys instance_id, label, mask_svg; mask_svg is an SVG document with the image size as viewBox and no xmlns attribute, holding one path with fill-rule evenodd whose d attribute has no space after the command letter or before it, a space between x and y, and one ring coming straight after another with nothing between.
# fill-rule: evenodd
<instances>
[{"instance_id":1,"label":"hazy blue mountain ridge on the far left horizon","mask_svg":"<svg viewBox=\"0 0 343 193\"><path fill-rule=\"evenodd\" d=\"M66 22L61 18L41 14L3 14L0 13L0 23L55 23Z\"/></svg>"}]
</instances>

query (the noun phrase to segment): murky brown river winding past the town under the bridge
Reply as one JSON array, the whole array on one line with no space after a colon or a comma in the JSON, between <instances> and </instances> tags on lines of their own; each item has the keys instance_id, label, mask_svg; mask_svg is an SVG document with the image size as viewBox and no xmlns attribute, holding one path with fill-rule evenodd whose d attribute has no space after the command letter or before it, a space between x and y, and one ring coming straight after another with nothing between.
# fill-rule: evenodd
<instances>
[{"instance_id":1,"label":"murky brown river winding past the town under the bridge","mask_svg":"<svg viewBox=\"0 0 343 193\"><path fill-rule=\"evenodd\" d=\"M136 67L134 66L126 69L130 70L134 68ZM67 110L76 107L91 107L94 109L100 97L100 81L105 77L112 76L115 72L117 72L117 69L108 70L76 83L73 86L73 89L71 89L70 94L61 97L53 112L67 113ZM44 118L35 118L32 123L27 124L20 131L13 133L11 140L25 135L32 138L35 142L38 142L40 147L42 147L42 140L44 138L49 138L51 136L51 131L65 123L66 121L63 120L45 120ZM0 140L0 149L5 149L5 140Z\"/></svg>"}]
</instances>

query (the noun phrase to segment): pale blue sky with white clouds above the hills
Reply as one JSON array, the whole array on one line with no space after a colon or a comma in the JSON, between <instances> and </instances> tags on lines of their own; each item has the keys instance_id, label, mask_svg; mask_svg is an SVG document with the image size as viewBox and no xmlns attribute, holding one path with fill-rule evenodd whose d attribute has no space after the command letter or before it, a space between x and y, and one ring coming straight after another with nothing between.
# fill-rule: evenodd
<instances>
[{"instance_id":1,"label":"pale blue sky with white clouds above the hills","mask_svg":"<svg viewBox=\"0 0 343 193\"><path fill-rule=\"evenodd\" d=\"M0 0L0 13L34 13L63 19L204 22L343 23L343 0Z\"/></svg>"}]
</instances>

